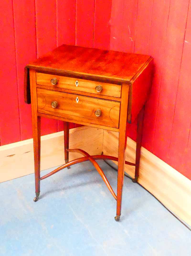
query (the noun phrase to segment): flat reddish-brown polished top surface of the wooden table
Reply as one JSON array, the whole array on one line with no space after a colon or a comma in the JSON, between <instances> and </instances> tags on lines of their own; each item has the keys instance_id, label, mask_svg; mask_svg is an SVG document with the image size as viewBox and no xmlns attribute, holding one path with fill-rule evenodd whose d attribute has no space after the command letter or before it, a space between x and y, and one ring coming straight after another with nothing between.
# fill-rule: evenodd
<instances>
[{"instance_id":1,"label":"flat reddish-brown polished top surface of the wooden table","mask_svg":"<svg viewBox=\"0 0 191 256\"><path fill-rule=\"evenodd\" d=\"M125 82L131 81L150 59L148 55L61 45L26 68L60 74L69 71L87 78L102 77Z\"/></svg>"}]
</instances>

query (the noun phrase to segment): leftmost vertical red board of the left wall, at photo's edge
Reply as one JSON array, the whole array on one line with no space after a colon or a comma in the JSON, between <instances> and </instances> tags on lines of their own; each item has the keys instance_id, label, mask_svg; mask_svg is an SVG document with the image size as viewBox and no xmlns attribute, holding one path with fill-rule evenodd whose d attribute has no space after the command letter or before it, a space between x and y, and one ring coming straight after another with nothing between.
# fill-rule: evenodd
<instances>
[{"instance_id":1,"label":"leftmost vertical red board of the left wall, at photo's edge","mask_svg":"<svg viewBox=\"0 0 191 256\"><path fill-rule=\"evenodd\" d=\"M1 145L20 141L15 33L12 1L1 1L0 136Z\"/></svg>"}]
</instances>

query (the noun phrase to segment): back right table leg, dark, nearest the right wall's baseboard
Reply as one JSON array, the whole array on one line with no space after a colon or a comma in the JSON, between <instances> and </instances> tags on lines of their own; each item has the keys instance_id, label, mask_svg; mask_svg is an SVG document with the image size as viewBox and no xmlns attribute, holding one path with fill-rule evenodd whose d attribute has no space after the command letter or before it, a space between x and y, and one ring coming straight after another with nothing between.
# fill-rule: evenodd
<instances>
[{"instance_id":1,"label":"back right table leg, dark, nearest the right wall's baseboard","mask_svg":"<svg viewBox=\"0 0 191 256\"><path fill-rule=\"evenodd\" d=\"M137 121L137 144L136 144L136 159L135 159L135 178L132 179L132 182L136 183L139 177L139 165L141 157L141 142L142 142L142 133L143 133L143 117L144 117L144 107L138 114Z\"/></svg>"}]
</instances>

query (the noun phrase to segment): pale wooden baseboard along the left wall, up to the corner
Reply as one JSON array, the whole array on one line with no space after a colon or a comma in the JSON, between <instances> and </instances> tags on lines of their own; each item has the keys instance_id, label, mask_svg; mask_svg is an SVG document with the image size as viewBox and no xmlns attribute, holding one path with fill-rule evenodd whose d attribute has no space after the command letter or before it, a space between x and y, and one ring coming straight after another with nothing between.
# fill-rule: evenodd
<instances>
[{"instance_id":1,"label":"pale wooden baseboard along the left wall, up to the corner","mask_svg":"<svg viewBox=\"0 0 191 256\"><path fill-rule=\"evenodd\" d=\"M64 132L41 136L41 170L64 164ZM96 145L96 146L95 146ZM70 130L70 148L101 154L103 130L82 126ZM69 160L81 157L69 153ZM0 147L0 182L34 173L33 139Z\"/></svg>"}]
</instances>

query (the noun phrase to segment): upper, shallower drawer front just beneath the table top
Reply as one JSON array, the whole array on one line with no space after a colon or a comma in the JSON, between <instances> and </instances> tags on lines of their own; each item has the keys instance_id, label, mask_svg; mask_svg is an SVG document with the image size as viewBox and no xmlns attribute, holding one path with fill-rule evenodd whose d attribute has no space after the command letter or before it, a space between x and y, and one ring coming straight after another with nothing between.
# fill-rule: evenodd
<instances>
[{"instance_id":1,"label":"upper, shallower drawer front just beneath the table top","mask_svg":"<svg viewBox=\"0 0 191 256\"><path fill-rule=\"evenodd\" d=\"M52 84L51 79L56 78L57 80L53 80ZM118 84L110 84L110 83L102 83L95 82L84 79L77 79L72 77L63 77L56 76L51 74L44 74L36 72L36 83L46 86L51 86L53 88L61 88L68 89L79 92L87 92L94 94L101 94L105 96L111 97L121 97L121 86Z\"/></svg>"}]
</instances>

